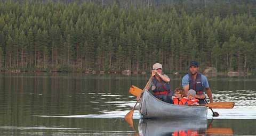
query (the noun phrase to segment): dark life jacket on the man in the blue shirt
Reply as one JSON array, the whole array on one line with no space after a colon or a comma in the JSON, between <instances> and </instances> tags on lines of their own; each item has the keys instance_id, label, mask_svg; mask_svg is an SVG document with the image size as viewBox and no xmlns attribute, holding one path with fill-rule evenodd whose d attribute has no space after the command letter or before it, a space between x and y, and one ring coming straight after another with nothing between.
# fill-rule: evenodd
<instances>
[{"instance_id":1,"label":"dark life jacket on the man in the blue shirt","mask_svg":"<svg viewBox=\"0 0 256 136\"><path fill-rule=\"evenodd\" d=\"M202 78L201 78L202 74L201 73L197 73L196 75L196 80L193 79L192 75L189 73L188 77L189 77L189 90L193 89L196 91L197 95L202 95L204 94L204 87L202 85Z\"/></svg>"}]
</instances>

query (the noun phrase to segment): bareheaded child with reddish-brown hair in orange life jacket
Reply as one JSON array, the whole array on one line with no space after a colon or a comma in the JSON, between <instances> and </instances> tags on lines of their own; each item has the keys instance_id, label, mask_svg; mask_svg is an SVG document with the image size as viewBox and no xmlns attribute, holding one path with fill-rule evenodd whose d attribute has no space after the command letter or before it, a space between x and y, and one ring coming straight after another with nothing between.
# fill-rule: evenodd
<instances>
[{"instance_id":1,"label":"bareheaded child with reddish-brown hair in orange life jacket","mask_svg":"<svg viewBox=\"0 0 256 136\"><path fill-rule=\"evenodd\" d=\"M174 92L175 96L172 97L173 104L185 105L188 101L188 98L185 97L185 90L182 88L176 88Z\"/></svg>"}]
</instances>

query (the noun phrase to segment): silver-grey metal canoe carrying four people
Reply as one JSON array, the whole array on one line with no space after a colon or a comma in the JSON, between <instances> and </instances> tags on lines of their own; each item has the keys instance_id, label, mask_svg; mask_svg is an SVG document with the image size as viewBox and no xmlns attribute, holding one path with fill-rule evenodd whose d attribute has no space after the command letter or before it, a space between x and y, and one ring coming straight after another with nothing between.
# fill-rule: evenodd
<instances>
[{"instance_id":1,"label":"silver-grey metal canoe carrying four people","mask_svg":"<svg viewBox=\"0 0 256 136\"><path fill-rule=\"evenodd\" d=\"M141 118L207 118L207 107L173 105L157 99L149 91L142 94L139 113Z\"/></svg>"}]
</instances>

